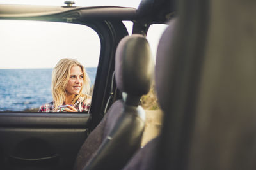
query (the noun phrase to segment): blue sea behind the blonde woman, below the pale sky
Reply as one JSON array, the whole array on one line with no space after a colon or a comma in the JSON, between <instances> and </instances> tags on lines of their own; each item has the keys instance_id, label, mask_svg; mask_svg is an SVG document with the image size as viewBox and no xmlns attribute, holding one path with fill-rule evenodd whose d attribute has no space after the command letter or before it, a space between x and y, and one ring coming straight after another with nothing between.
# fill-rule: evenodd
<instances>
[{"instance_id":1,"label":"blue sea behind the blonde woman, below the pale sky","mask_svg":"<svg viewBox=\"0 0 256 170\"><path fill-rule=\"evenodd\" d=\"M94 85L97 67L86 71ZM0 69L0 111L24 111L52 101L52 69Z\"/></svg>"}]
</instances>

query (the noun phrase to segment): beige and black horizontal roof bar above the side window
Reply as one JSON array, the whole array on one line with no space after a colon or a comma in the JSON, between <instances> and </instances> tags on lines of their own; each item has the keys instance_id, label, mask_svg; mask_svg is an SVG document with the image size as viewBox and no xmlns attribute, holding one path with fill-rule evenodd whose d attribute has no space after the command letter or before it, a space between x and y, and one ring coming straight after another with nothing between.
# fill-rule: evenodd
<instances>
[{"instance_id":1,"label":"beige and black horizontal roof bar above the side window","mask_svg":"<svg viewBox=\"0 0 256 170\"><path fill-rule=\"evenodd\" d=\"M124 8L119 6L93 6L93 7L70 7L65 6L33 6L33 5L0 5L0 18L4 19L22 19L26 17L46 17L49 15L58 15L61 13L74 13L81 11L76 15L67 16L80 20L81 18L100 18L108 20L109 18L120 18L122 20L132 20L136 18L136 8ZM82 16L83 15L83 16ZM61 18L61 16L60 16ZM29 18L31 20L31 18Z\"/></svg>"}]
</instances>

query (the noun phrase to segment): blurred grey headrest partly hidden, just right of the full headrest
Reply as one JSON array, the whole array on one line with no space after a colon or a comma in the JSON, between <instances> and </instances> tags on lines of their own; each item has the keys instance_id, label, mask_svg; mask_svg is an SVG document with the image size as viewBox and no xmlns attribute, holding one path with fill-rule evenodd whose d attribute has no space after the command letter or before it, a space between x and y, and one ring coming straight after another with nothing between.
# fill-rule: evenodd
<instances>
[{"instance_id":1,"label":"blurred grey headrest partly hidden, just right of the full headrest","mask_svg":"<svg viewBox=\"0 0 256 170\"><path fill-rule=\"evenodd\" d=\"M168 22L169 26L163 32L161 39L157 48L156 55L156 92L159 104L163 110L167 109L170 106L169 99L172 96L171 88L172 82L170 77L172 77L174 71L173 69L173 54L172 49L170 48L173 43L173 32L175 28L175 23L177 18L173 18Z\"/></svg>"}]
</instances>

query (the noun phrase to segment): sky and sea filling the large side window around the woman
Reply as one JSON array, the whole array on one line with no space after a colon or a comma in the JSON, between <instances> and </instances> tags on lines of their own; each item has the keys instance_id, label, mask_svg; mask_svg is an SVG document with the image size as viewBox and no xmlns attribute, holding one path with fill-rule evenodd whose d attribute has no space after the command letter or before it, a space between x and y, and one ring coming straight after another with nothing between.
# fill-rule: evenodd
<instances>
[{"instance_id":1,"label":"sky and sea filling the large side window around the woman","mask_svg":"<svg viewBox=\"0 0 256 170\"><path fill-rule=\"evenodd\" d=\"M0 46L0 111L37 111L51 102L52 69L63 58L81 62L93 87L100 39L90 27L0 20Z\"/></svg>"}]
</instances>

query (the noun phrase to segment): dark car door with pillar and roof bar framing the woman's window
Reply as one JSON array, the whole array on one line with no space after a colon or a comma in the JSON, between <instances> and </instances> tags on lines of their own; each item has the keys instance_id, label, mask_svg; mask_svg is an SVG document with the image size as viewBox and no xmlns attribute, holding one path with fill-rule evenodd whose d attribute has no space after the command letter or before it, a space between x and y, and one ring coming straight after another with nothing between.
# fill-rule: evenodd
<instances>
[{"instance_id":1,"label":"dark car door with pillar and roof bar framing the woman's window","mask_svg":"<svg viewBox=\"0 0 256 170\"><path fill-rule=\"evenodd\" d=\"M92 28L99 36L99 63L89 114L26 110L0 113L0 169L72 169L80 146L104 117L108 100L118 98L115 85L111 87L115 49L127 35L122 20L136 20L136 9L1 4L0 20L80 24ZM63 36L72 35L63 32Z\"/></svg>"}]
</instances>

